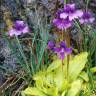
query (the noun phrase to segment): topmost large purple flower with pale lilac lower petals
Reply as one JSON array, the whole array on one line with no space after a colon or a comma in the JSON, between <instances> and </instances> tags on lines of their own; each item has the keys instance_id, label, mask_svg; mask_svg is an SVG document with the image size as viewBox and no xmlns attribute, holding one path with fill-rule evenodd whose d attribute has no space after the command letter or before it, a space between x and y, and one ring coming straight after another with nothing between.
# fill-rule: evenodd
<instances>
[{"instance_id":1,"label":"topmost large purple flower with pale lilac lower petals","mask_svg":"<svg viewBox=\"0 0 96 96\"><path fill-rule=\"evenodd\" d=\"M60 18L67 18L72 21L75 18L79 18L83 15L81 10L76 10L75 4L66 4L64 5L63 12L60 14Z\"/></svg>"}]
</instances>

